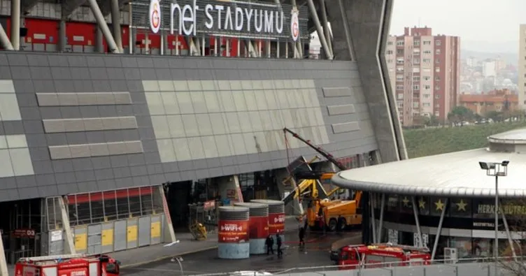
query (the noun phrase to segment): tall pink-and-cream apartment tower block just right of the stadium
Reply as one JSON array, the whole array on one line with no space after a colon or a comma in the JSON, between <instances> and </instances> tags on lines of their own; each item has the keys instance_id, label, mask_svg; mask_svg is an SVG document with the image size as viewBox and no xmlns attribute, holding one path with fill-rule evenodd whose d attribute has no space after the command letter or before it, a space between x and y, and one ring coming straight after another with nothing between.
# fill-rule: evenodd
<instances>
[{"instance_id":1,"label":"tall pink-and-cream apartment tower block just right of the stadium","mask_svg":"<svg viewBox=\"0 0 526 276\"><path fill-rule=\"evenodd\" d=\"M460 91L460 38L406 27L403 35L389 36L385 59L402 125L432 115L445 122Z\"/></svg>"}]
</instances>

